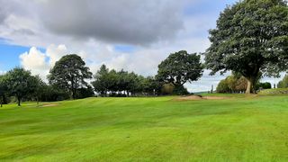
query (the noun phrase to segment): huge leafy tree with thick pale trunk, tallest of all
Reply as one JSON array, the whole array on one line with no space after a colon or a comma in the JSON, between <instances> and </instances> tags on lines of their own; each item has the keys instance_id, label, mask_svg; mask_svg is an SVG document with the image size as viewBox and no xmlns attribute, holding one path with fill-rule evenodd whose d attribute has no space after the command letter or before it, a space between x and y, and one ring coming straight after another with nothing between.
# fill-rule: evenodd
<instances>
[{"instance_id":1,"label":"huge leafy tree with thick pale trunk, tallest of all","mask_svg":"<svg viewBox=\"0 0 288 162\"><path fill-rule=\"evenodd\" d=\"M243 0L227 6L210 31L211 47L205 52L211 75L240 73L247 79L247 94L260 74L279 76L288 67L287 22L284 0Z\"/></svg>"}]
</instances>

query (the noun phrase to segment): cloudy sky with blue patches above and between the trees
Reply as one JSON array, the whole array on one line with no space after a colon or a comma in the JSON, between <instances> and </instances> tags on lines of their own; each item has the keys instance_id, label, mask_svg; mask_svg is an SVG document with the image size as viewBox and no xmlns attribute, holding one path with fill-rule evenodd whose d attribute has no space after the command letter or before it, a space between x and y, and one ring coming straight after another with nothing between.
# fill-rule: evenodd
<instances>
[{"instance_id":1,"label":"cloudy sky with blue patches above and between the trees","mask_svg":"<svg viewBox=\"0 0 288 162\"><path fill-rule=\"evenodd\" d=\"M204 52L220 12L236 2L0 0L0 74L23 67L45 80L59 58L78 54L93 73L105 64L154 76L170 53ZM190 92L208 91L229 75L209 73L185 86Z\"/></svg>"}]
</instances>

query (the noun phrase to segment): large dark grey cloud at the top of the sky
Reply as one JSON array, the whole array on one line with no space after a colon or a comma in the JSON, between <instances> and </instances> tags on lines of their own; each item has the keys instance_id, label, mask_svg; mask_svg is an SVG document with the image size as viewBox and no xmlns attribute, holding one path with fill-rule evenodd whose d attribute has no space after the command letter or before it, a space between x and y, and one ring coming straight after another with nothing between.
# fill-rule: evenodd
<instances>
[{"instance_id":1,"label":"large dark grey cloud at the top of the sky","mask_svg":"<svg viewBox=\"0 0 288 162\"><path fill-rule=\"evenodd\" d=\"M78 39L147 45L174 38L183 28L181 4L173 0L51 0L39 5L50 31Z\"/></svg>"}]
</instances>

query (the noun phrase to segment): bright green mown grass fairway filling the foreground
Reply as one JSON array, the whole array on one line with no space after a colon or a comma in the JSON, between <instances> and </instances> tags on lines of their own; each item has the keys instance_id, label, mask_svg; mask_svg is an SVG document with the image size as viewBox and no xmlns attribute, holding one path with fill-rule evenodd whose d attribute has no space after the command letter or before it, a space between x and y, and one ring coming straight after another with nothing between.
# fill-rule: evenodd
<instances>
[{"instance_id":1,"label":"bright green mown grass fairway filling the foreground","mask_svg":"<svg viewBox=\"0 0 288 162\"><path fill-rule=\"evenodd\" d=\"M288 96L0 109L0 161L288 161Z\"/></svg>"}]
</instances>

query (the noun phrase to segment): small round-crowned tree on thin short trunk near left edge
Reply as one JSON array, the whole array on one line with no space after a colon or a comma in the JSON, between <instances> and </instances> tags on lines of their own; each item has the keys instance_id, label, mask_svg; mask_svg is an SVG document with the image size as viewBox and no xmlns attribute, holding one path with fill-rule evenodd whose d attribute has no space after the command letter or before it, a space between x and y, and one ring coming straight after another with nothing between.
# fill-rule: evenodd
<instances>
[{"instance_id":1,"label":"small round-crowned tree on thin short trunk near left edge","mask_svg":"<svg viewBox=\"0 0 288 162\"><path fill-rule=\"evenodd\" d=\"M17 98L18 106L21 105L23 97L33 94L37 87L31 72L21 67L8 71L4 76L4 84L7 85L8 93Z\"/></svg>"}]
</instances>

